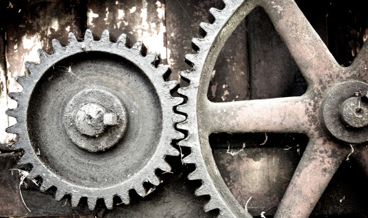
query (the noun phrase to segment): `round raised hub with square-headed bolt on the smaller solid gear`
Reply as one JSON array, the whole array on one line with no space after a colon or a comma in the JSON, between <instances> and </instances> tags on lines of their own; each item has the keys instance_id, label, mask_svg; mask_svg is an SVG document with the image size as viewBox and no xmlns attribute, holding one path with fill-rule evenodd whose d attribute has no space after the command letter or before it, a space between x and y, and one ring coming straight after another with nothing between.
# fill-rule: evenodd
<instances>
[{"instance_id":1,"label":"round raised hub with square-headed bolt on the smaller solid gear","mask_svg":"<svg viewBox=\"0 0 368 218\"><path fill-rule=\"evenodd\" d=\"M127 112L121 100L111 92L84 90L66 105L64 128L79 148L101 152L112 148L125 135Z\"/></svg>"}]
</instances>

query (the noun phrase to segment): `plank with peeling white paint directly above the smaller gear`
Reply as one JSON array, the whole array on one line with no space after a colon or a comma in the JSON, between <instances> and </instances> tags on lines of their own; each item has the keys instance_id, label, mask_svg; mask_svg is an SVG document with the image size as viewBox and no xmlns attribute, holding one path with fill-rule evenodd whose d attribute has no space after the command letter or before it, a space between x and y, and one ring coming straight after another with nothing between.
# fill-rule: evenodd
<instances>
[{"instance_id":1,"label":"plank with peeling white paint directly above the smaller gear","mask_svg":"<svg viewBox=\"0 0 368 218\"><path fill-rule=\"evenodd\" d=\"M88 29L101 36L104 29L118 38L121 33L133 41L143 41L166 63L165 1L88 1Z\"/></svg>"}]
</instances>

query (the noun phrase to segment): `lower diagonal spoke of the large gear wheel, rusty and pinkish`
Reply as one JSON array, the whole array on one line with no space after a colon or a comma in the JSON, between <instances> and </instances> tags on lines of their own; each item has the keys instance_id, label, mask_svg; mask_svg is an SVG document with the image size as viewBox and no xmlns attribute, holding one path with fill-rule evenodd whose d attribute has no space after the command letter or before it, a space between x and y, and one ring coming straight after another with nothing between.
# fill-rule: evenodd
<instances>
[{"instance_id":1,"label":"lower diagonal spoke of the large gear wheel, rusty and pinkish","mask_svg":"<svg viewBox=\"0 0 368 218\"><path fill-rule=\"evenodd\" d=\"M310 139L275 218L309 217L348 154L347 146L341 147L327 139Z\"/></svg>"}]
</instances>

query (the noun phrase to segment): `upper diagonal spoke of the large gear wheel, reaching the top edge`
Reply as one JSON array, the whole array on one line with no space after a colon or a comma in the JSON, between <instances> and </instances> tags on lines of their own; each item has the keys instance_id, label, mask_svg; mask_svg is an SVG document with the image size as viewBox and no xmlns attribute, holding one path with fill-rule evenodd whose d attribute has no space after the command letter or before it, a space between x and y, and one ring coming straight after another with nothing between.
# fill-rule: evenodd
<instances>
[{"instance_id":1,"label":"upper diagonal spoke of the large gear wheel, reaching the top edge","mask_svg":"<svg viewBox=\"0 0 368 218\"><path fill-rule=\"evenodd\" d=\"M339 71L341 67L294 0L265 0L261 5L308 83L328 80L329 74Z\"/></svg>"}]
</instances>

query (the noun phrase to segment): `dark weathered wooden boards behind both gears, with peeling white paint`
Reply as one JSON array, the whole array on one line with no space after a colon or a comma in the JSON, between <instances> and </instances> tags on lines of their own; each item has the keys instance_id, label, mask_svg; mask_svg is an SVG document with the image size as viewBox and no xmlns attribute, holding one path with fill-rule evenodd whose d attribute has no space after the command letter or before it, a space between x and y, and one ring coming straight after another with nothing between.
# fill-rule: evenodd
<instances>
[{"instance_id":1,"label":"dark weathered wooden boards behind both gears, with peeling white paint","mask_svg":"<svg viewBox=\"0 0 368 218\"><path fill-rule=\"evenodd\" d=\"M299 7L315 27L339 64L349 66L368 38L368 3L365 0L299 0ZM99 206L89 211L86 202L71 208L70 199L53 200L53 190L40 193L27 182L22 193L29 212L19 195L16 168L19 152L9 150L8 143L16 136L5 128L16 122L5 115L16 107L9 92L21 92L14 77L25 75L25 61L38 62L37 49L53 51L51 40L66 44L67 34L83 38L86 29L100 35L104 29L114 36L126 33L133 42L143 40L149 51L160 53L162 64L169 64L169 79L180 79L180 70L188 69L184 55L193 53L191 38L199 37L199 23L208 21L208 10L221 7L220 0L23 0L1 1L0 12L0 217L14 216L79 216L79 217L211 217L204 213L206 197L195 197L198 182L186 180L192 166L182 166L171 158L175 176L164 176L164 185L142 199L132 193L132 204L114 210ZM214 102L299 96L306 83L289 51L262 9L254 10L234 31L220 53L208 87L208 98ZM282 197L285 185L299 161L308 138L303 135L268 134L267 148L259 148L265 133L253 135L212 135L214 157L221 175L241 204L249 197L249 212L272 215ZM287 142L286 142L287 141ZM232 156L228 148L247 143L247 151ZM297 148L297 145L301 148ZM285 150L285 146L292 149ZM254 148L252 148L254 147ZM188 152L184 150L184 152ZM269 159L278 159L270 169ZM258 160L258 161L257 161ZM260 161L261 160L261 161ZM246 167L240 167L240 166ZM12 174L13 173L13 174ZM278 182L271 179L276 174ZM240 175L240 176L239 176ZM256 175L256 176L254 176ZM357 182L356 181L360 181ZM354 163L344 163L323 194L315 215L350 214L367 216L367 194L362 176ZM343 200L342 200L343 199ZM340 202L341 201L341 202ZM118 202L119 203L119 202ZM99 202L99 204L102 204Z\"/></svg>"}]
</instances>

